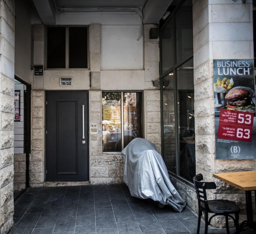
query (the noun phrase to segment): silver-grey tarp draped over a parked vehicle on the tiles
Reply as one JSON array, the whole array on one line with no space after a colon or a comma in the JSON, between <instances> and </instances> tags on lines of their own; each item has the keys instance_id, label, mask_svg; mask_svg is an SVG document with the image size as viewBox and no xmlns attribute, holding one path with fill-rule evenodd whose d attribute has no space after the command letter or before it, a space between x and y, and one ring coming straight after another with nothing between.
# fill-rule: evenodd
<instances>
[{"instance_id":1,"label":"silver-grey tarp draped over a parked vehicle on the tiles","mask_svg":"<svg viewBox=\"0 0 256 234\"><path fill-rule=\"evenodd\" d=\"M130 193L138 198L151 198L171 205L181 212L185 201L172 185L162 156L153 143L142 138L133 139L122 151L123 180Z\"/></svg>"}]
</instances>

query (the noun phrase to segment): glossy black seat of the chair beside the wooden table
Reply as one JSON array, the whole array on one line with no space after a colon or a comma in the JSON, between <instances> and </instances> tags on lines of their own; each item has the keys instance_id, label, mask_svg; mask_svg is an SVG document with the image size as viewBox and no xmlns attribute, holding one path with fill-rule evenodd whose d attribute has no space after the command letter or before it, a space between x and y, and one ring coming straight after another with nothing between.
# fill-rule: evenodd
<instances>
[{"instance_id":1,"label":"glossy black seat of the chair beside the wooden table","mask_svg":"<svg viewBox=\"0 0 256 234\"><path fill-rule=\"evenodd\" d=\"M203 202L201 202L201 206L205 208ZM240 211L240 208L229 200L208 200L208 206L213 213L236 213Z\"/></svg>"}]
</instances>

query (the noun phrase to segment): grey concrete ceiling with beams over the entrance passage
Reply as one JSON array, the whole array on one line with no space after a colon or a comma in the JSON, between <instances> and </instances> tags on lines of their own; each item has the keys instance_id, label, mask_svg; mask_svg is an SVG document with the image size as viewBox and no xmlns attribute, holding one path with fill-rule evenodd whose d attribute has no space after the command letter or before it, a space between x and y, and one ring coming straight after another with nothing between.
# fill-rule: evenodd
<instances>
[{"instance_id":1,"label":"grey concrete ceiling with beams over the entrance passage","mask_svg":"<svg viewBox=\"0 0 256 234\"><path fill-rule=\"evenodd\" d=\"M144 24L159 23L173 0L33 0L44 24L56 24L56 14L66 12L136 12ZM131 9L132 8L132 9ZM143 9L143 16L142 16Z\"/></svg>"}]
</instances>

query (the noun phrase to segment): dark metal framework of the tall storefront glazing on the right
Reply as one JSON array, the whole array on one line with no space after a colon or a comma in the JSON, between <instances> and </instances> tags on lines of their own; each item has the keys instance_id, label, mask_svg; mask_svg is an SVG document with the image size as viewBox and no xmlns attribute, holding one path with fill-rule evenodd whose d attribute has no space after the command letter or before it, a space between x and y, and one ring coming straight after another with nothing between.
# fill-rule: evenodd
<instances>
[{"instance_id":1,"label":"dark metal framework of the tall storefront glazing on the right","mask_svg":"<svg viewBox=\"0 0 256 234\"><path fill-rule=\"evenodd\" d=\"M160 41L159 41L159 47L160 47L160 106L161 106L161 152L162 157L164 159L164 120L163 120L163 78L166 76L169 76L169 73L173 73L173 82L174 82L174 118L175 118L175 154L176 154L176 173L173 173L168 170L169 176L174 177L183 183L193 186L193 183L181 176L179 176L179 116L178 116L178 83L177 83L177 69L181 67L183 64L188 62L189 60L193 59L193 53L190 53L185 58L181 59L180 61L177 61L177 51L176 51L176 33L173 38L173 51L174 51L174 65L169 68L166 72L162 73L162 40L161 40L161 31L166 27L169 20L173 17L174 21L174 31L176 31L176 24L175 24L175 14L179 10L180 6L185 2L185 0L181 1L176 8L173 10L173 12L168 16L166 22L162 25L161 29L159 30L160 34ZM193 38L192 38L193 40Z\"/></svg>"}]
</instances>

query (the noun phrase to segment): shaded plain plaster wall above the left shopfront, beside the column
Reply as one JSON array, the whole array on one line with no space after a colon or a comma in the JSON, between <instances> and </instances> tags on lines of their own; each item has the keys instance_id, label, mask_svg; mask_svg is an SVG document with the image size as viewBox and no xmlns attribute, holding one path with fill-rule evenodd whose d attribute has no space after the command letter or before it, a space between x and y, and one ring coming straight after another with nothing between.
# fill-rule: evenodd
<instances>
[{"instance_id":1,"label":"shaded plain plaster wall above the left shopfront, beside the column","mask_svg":"<svg viewBox=\"0 0 256 234\"><path fill-rule=\"evenodd\" d=\"M15 75L31 84L31 7L28 1L15 1Z\"/></svg>"}]
</instances>

